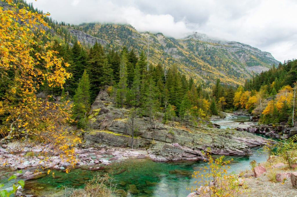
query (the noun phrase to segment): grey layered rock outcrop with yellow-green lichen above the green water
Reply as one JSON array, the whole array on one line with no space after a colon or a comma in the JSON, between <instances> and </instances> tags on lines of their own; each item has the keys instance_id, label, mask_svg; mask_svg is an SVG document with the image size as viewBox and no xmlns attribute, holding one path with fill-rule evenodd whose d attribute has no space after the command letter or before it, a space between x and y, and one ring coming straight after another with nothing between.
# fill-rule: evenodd
<instances>
[{"instance_id":1,"label":"grey layered rock outcrop with yellow-green lichen above the green water","mask_svg":"<svg viewBox=\"0 0 297 197\"><path fill-rule=\"evenodd\" d=\"M101 90L89 114L89 130L84 135L86 147L131 147L128 109L115 107L113 99ZM251 133L206 128L203 126L170 125L155 121L150 124L145 117L134 120L137 125L134 148L146 148L155 161L204 159L202 150L211 148L213 154L248 155L251 147L265 143L265 139Z\"/></svg>"}]
</instances>

